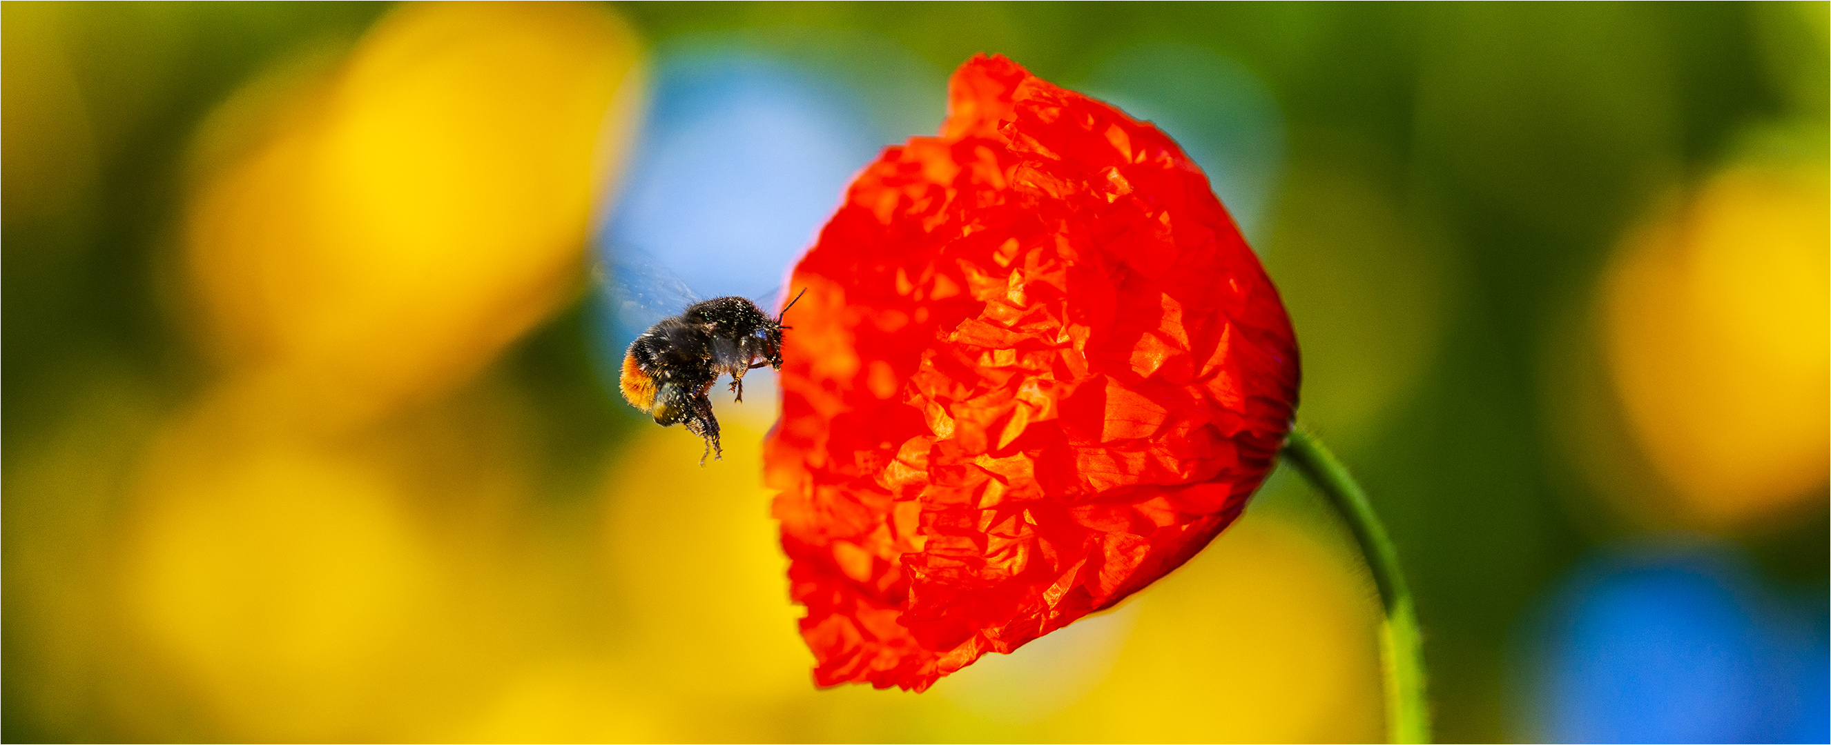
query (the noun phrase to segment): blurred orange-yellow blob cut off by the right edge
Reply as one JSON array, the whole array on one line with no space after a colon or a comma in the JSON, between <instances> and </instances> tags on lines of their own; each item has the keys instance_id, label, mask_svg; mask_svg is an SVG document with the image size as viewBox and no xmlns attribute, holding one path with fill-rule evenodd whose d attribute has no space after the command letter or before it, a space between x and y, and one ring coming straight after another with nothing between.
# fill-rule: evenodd
<instances>
[{"instance_id":1,"label":"blurred orange-yellow blob cut off by the right edge","mask_svg":"<svg viewBox=\"0 0 1831 745\"><path fill-rule=\"evenodd\" d=\"M1822 500L1831 467L1831 218L1824 165L1749 163L1620 245L1604 344L1661 513L1747 527Z\"/></svg>"}]
</instances>

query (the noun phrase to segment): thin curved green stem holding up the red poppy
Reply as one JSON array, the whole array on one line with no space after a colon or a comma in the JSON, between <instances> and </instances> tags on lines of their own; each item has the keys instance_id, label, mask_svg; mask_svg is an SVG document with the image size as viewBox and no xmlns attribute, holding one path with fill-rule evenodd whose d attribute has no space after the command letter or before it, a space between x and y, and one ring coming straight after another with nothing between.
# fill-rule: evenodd
<instances>
[{"instance_id":1,"label":"thin curved green stem holding up the red poppy","mask_svg":"<svg viewBox=\"0 0 1831 745\"><path fill-rule=\"evenodd\" d=\"M1399 571L1399 553L1386 536L1386 525L1373 514L1366 491L1316 437L1291 430L1284 456L1316 485L1360 544L1360 555L1373 569L1386 622L1381 624L1381 663L1386 670L1386 736L1395 743L1430 741L1430 705L1425 697L1425 639L1417 632L1412 589Z\"/></svg>"}]
</instances>

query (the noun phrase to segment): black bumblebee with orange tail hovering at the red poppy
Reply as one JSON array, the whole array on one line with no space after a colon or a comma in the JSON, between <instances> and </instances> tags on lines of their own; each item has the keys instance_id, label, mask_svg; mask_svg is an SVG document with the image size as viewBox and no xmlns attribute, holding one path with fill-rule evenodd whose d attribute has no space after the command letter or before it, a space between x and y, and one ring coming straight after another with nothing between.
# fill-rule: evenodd
<instances>
[{"instance_id":1,"label":"black bumblebee with orange tail hovering at the red poppy","mask_svg":"<svg viewBox=\"0 0 1831 745\"><path fill-rule=\"evenodd\" d=\"M655 417L655 425L683 423L687 432L705 439L705 454L699 456L699 465L705 465L705 456L723 454L718 447L718 417L712 416L707 394L720 375L731 375L731 392L742 403L743 373L764 366L782 370L784 329L789 326L782 326L782 315L771 317L749 298L696 302L677 317L661 319L630 342L619 381L623 397Z\"/></svg>"}]
</instances>

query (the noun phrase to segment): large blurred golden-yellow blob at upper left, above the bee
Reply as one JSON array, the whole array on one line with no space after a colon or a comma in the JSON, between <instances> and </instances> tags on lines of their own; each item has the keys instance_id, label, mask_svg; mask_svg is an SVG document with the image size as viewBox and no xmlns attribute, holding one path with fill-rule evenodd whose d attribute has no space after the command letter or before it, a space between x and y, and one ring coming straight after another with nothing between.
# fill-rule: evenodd
<instances>
[{"instance_id":1,"label":"large blurred golden-yellow blob at upper left, above the bee","mask_svg":"<svg viewBox=\"0 0 1831 745\"><path fill-rule=\"evenodd\" d=\"M480 370L577 287L639 53L588 5L414 4L251 84L200 145L205 344L333 426Z\"/></svg>"}]
</instances>

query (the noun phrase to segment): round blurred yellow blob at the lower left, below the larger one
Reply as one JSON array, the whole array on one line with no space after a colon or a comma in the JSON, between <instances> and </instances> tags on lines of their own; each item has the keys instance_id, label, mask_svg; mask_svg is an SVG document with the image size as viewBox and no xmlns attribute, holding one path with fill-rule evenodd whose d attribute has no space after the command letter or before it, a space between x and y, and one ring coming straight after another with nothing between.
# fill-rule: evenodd
<instances>
[{"instance_id":1,"label":"round blurred yellow blob at the lower left, below the larger one","mask_svg":"<svg viewBox=\"0 0 1831 745\"><path fill-rule=\"evenodd\" d=\"M377 732L374 699L430 621L428 538L374 467L205 439L156 452L170 472L128 573L146 635L236 736Z\"/></svg>"}]
</instances>

